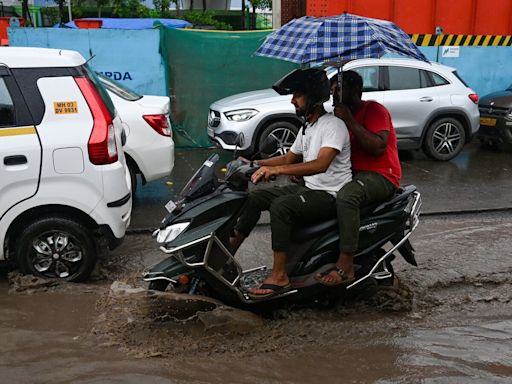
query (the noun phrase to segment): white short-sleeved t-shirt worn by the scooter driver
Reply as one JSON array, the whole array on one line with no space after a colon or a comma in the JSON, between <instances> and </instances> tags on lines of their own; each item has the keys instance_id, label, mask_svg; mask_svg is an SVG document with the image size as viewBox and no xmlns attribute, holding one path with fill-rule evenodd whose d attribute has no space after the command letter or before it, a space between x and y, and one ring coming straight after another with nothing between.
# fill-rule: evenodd
<instances>
[{"instance_id":1,"label":"white short-sleeved t-shirt worn by the scooter driver","mask_svg":"<svg viewBox=\"0 0 512 384\"><path fill-rule=\"evenodd\" d=\"M329 168L324 173L304 176L306 187L322 190L336 195L341 187L352 180L350 164L350 136L343 120L326 113L313 124L307 124L305 134L302 128L290 150L302 156L302 161L318 158L320 148L329 147L338 150Z\"/></svg>"}]
</instances>

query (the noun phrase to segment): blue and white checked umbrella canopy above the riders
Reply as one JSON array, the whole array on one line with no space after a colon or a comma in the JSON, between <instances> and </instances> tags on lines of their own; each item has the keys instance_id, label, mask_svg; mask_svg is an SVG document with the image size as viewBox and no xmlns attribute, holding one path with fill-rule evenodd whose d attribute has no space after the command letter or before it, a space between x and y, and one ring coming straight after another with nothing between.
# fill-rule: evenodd
<instances>
[{"instance_id":1,"label":"blue and white checked umbrella canopy above the riders","mask_svg":"<svg viewBox=\"0 0 512 384\"><path fill-rule=\"evenodd\" d=\"M294 19L268 35L256 51L258 56L298 64L376 58L385 53L428 61L396 24L348 13Z\"/></svg>"}]
</instances>

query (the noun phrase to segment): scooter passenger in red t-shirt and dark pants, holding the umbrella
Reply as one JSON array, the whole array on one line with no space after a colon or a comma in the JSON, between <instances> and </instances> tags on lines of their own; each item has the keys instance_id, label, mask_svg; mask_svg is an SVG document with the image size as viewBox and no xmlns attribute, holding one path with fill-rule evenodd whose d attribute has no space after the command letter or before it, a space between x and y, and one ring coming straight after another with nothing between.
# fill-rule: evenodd
<instances>
[{"instance_id":1,"label":"scooter passenger in red t-shirt and dark pants, holding the umbrella","mask_svg":"<svg viewBox=\"0 0 512 384\"><path fill-rule=\"evenodd\" d=\"M342 101L334 114L350 133L352 181L336 196L340 228L340 256L336 265L316 279L330 286L354 281L354 253L359 245L360 207L389 199L400 185L396 132L382 104L361 100L363 79L357 72L343 73ZM337 100L337 92L334 92Z\"/></svg>"}]
</instances>

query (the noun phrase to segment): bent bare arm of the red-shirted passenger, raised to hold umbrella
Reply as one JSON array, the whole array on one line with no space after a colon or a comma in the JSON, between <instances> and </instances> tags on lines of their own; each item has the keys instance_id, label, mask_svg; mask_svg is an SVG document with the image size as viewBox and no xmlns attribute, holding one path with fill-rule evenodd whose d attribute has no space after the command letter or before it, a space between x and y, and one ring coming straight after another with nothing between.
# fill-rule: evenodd
<instances>
[{"instance_id":1,"label":"bent bare arm of the red-shirted passenger, raised to hold umbrella","mask_svg":"<svg viewBox=\"0 0 512 384\"><path fill-rule=\"evenodd\" d=\"M343 104L336 105L334 115L347 124L347 128L366 152L373 156L380 156L386 151L388 131L370 132L354 118L350 109Z\"/></svg>"}]
</instances>

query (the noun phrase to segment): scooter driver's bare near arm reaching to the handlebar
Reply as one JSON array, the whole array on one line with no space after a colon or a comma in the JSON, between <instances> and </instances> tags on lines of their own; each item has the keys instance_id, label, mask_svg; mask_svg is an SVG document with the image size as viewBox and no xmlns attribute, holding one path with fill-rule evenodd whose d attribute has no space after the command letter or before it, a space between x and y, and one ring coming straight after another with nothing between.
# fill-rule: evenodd
<instances>
[{"instance_id":1,"label":"scooter driver's bare near arm reaching to the handlebar","mask_svg":"<svg viewBox=\"0 0 512 384\"><path fill-rule=\"evenodd\" d=\"M288 151L287 155L291 153ZM287 163L276 166L262 166L252 175L251 181L256 184L260 180L268 181L271 176L289 175L289 176L310 176L318 173L324 173L338 154L338 150L331 147L322 147L315 160L305 163ZM297 156L294 154L294 156ZM270 160L270 159L269 159ZM260 163L261 164L261 163Z\"/></svg>"}]
</instances>

